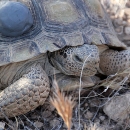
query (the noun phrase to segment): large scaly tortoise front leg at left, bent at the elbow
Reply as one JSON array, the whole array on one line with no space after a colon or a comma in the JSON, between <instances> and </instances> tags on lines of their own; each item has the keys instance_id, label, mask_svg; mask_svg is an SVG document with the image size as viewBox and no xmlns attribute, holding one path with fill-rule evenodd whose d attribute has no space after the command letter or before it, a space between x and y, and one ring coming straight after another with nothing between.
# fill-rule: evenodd
<instances>
[{"instance_id":1,"label":"large scaly tortoise front leg at left, bent at the elbow","mask_svg":"<svg viewBox=\"0 0 130 130\"><path fill-rule=\"evenodd\" d=\"M25 114L42 105L49 94L49 80L39 64L0 93L0 118Z\"/></svg>"}]
</instances>

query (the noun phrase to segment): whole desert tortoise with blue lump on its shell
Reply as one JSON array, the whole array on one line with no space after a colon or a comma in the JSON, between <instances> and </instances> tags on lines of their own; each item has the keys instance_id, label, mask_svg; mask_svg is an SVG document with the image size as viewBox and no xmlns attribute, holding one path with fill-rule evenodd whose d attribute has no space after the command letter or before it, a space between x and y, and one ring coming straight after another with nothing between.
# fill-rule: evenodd
<instances>
[{"instance_id":1,"label":"whole desert tortoise with blue lump on its shell","mask_svg":"<svg viewBox=\"0 0 130 130\"><path fill-rule=\"evenodd\" d=\"M83 63L84 77L109 75L129 66L125 49L98 0L1 0L0 117L44 103L49 62L66 75L79 76Z\"/></svg>"}]
</instances>

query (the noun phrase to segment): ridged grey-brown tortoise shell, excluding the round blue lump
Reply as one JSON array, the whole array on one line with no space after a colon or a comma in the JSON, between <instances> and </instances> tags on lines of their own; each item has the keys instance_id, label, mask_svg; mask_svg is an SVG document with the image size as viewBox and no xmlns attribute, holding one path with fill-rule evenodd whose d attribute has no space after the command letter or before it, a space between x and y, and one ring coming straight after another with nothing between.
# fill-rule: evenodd
<instances>
[{"instance_id":1,"label":"ridged grey-brown tortoise shell, excluding the round blue lump","mask_svg":"<svg viewBox=\"0 0 130 130\"><path fill-rule=\"evenodd\" d=\"M33 25L17 37L0 33L0 66L84 43L126 47L98 0L15 1L29 8Z\"/></svg>"}]
</instances>

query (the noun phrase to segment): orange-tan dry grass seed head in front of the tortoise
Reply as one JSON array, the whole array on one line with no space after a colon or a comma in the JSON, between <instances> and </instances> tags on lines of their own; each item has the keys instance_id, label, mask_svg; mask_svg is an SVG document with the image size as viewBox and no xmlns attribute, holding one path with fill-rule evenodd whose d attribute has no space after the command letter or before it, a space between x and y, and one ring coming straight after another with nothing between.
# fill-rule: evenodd
<instances>
[{"instance_id":1,"label":"orange-tan dry grass seed head in front of the tortoise","mask_svg":"<svg viewBox=\"0 0 130 130\"><path fill-rule=\"evenodd\" d=\"M65 94L59 90L58 84L54 81L54 93L50 98L51 104L56 108L58 114L64 120L68 130L71 129L72 112L75 106L75 101L71 96L65 96Z\"/></svg>"}]
</instances>

